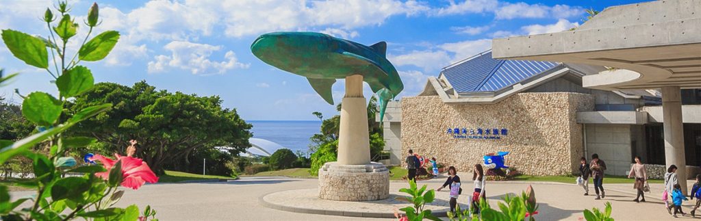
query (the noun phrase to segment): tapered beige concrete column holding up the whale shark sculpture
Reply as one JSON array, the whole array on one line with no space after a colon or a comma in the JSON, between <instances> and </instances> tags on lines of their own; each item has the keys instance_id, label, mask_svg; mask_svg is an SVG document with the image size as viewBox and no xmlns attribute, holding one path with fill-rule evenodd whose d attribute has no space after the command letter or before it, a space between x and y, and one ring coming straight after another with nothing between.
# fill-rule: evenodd
<instances>
[{"instance_id":1,"label":"tapered beige concrete column holding up the whale shark sculpture","mask_svg":"<svg viewBox=\"0 0 701 221\"><path fill-rule=\"evenodd\" d=\"M341 101L339 157L341 165L370 163L367 107L362 96L362 75L346 76L346 96Z\"/></svg>"}]
</instances>

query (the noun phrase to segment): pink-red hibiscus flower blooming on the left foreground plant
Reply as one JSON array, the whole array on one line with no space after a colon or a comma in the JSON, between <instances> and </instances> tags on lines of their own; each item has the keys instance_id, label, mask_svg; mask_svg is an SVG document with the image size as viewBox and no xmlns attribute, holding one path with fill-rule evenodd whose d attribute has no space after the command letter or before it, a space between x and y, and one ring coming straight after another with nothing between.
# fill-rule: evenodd
<instances>
[{"instance_id":1,"label":"pink-red hibiscus flower blooming on the left foreground plant","mask_svg":"<svg viewBox=\"0 0 701 221\"><path fill-rule=\"evenodd\" d=\"M122 162L122 183L123 187L129 187L132 189L139 189L144 183L156 183L158 182L158 177L154 171L151 171L149 165L144 163L141 159L133 158L131 156L119 156L119 154L114 154L117 161ZM114 166L117 161L104 157L100 154L95 154L91 161L100 161L102 166L107 169L107 172L95 173L98 177L108 180L109 170Z\"/></svg>"}]
</instances>

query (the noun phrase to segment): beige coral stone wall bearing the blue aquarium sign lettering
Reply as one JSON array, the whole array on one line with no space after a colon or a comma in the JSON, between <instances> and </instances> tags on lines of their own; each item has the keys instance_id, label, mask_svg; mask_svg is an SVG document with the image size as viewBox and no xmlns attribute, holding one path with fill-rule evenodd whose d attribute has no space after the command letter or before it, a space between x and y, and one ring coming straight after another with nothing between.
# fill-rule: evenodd
<instances>
[{"instance_id":1,"label":"beige coral stone wall bearing the blue aquarium sign lettering","mask_svg":"<svg viewBox=\"0 0 701 221\"><path fill-rule=\"evenodd\" d=\"M482 163L486 153L508 151L506 165L521 173L567 175L577 170L583 154L576 112L593 109L594 98L580 93L518 93L489 105L449 105L438 96L404 97L402 152L414 149L465 172ZM506 128L508 135L500 140L454 138L448 128Z\"/></svg>"}]
</instances>

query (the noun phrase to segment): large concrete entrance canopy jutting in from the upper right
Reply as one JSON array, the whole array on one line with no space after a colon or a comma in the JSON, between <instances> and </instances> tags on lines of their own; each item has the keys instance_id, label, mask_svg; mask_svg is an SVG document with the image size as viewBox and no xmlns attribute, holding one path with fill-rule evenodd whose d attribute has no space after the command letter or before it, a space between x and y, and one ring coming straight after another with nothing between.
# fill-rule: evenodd
<instances>
[{"instance_id":1,"label":"large concrete entrance canopy jutting in from the upper right","mask_svg":"<svg viewBox=\"0 0 701 221\"><path fill-rule=\"evenodd\" d=\"M606 8L569 32L494 39L494 58L615 67L583 77L601 90L701 88L701 0Z\"/></svg>"}]
</instances>

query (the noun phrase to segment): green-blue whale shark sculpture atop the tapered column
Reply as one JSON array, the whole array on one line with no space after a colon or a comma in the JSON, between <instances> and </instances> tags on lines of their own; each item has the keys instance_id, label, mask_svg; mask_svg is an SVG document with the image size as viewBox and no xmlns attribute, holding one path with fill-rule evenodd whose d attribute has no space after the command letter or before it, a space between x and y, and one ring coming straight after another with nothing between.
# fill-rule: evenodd
<instances>
[{"instance_id":1,"label":"green-blue whale shark sculpture atop the tapered column","mask_svg":"<svg viewBox=\"0 0 701 221\"><path fill-rule=\"evenodd\" d=\"M251 51L268 65L306 77L330 105L336 79L362 75L379 98L380 121L387 103L404 89L397 69L386 58L384 41L365 46L316 32L273 32L259 36Z\"/></svg>"}]
</instances>

